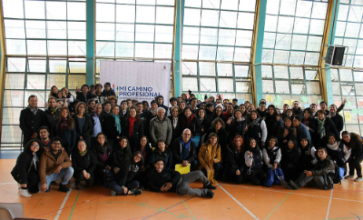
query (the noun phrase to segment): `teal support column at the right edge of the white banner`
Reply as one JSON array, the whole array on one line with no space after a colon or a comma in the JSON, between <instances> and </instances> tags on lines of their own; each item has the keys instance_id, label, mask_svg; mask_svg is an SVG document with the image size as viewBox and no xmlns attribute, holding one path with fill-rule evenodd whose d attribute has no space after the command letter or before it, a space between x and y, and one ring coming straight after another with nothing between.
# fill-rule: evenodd
<instances>
[{"instance_id":1,"label":"teal support column at the right edge of the white banner","mask_svg":"<svg viewBox=\"0 0 363 220\"><path fill-rule=\"evenodd\" d=\"M173 95L182 95L182 25L184 15L184 1L175 0L174 41L172 51L172 84Z\"/></svg>"}]
</instances>

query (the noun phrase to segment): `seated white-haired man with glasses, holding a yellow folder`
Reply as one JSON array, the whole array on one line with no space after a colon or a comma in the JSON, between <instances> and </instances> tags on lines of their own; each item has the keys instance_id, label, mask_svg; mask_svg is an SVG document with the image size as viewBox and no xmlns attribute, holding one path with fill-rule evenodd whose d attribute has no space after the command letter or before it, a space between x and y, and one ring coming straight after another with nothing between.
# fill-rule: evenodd
<instances>
[{"instance_id":1,"label":"seated white-haired man with glasses, holding a yellow folder","mask_svg":"<svg viewBox=\"0 0 363 220\"><path fill-rule=\"evenodd\" d=\"M195 152L195 144L191 140L191 130L185 128L182 135L172 142L172 163L174 165L187 166L191 164L191 171L196 170L198 156Z\"/></svg>"}]
</instances>

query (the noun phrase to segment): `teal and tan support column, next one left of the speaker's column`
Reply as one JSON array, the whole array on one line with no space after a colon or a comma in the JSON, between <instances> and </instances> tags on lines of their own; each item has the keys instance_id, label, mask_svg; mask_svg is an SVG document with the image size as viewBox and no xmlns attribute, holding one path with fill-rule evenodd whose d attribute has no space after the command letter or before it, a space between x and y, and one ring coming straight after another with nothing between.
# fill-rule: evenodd
<instances>
[{"instance_id":1,"label":"teal and tan support column, next one left of the speaker's column","mask_svg":"<svg viewBox=\"0 0 363 220\"><path fill-rule=\"evenodd\" d=\"M262 45L265 32L267 0L256 1L255 25L252 43L252 95L253 104L258 107L260 99L263 98L262 89Z\"/></svg>"}]
</instances>

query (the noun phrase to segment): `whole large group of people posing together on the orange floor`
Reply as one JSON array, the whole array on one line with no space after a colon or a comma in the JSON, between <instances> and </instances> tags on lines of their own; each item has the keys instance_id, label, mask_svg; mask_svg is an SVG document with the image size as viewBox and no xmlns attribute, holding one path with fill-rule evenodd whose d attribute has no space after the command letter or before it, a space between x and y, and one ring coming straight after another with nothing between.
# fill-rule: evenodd
<instances>
[{"instance_id":1,"label":"whole large group of people posing together on the orange floor","mask_svg":"<svg viewBox=\"0 0 363 220\"><path fill-rule=\"evenodd\" d=\"M104 86L104 89L103 89ZM91 89L90 89L91 88ZM213 197L216 180L264 185L280 169L280 184L333 187L335 165L362 181L362 137L343 131L342 105L238 105L221 96L182 94L170 106L159 95L118 103L110 83L83 85L72 95L53 86L45 110L28 97L20 115L24 152L12 171L19 195L105 185L112 195L154 192ZM318 110L319 109L319 110ZM181 175L175 165L188 166ZM355 177L357 174L357 177ZM202 188L190 183L201 180Z\"/></svg>"}]
</instances>

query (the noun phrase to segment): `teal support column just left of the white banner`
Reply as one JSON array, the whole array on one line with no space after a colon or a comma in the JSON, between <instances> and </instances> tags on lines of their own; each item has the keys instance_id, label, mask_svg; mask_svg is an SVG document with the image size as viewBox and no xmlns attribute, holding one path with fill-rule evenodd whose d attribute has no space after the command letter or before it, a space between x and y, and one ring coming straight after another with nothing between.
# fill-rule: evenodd
<instances>
[{"instance_id":1,"label":"teal support column just left of the white banner","mask_svg":"<svg viewBox=\"0 0 363 220\"><path fill-rule=\"evenodd\" d=\"M86 76L85 81L87 85L94 83L94 26L95 26L95 3L94 0L86 1L86 47L87 47L87 61L86 61Z\"/></svg>"}]
</instances>

